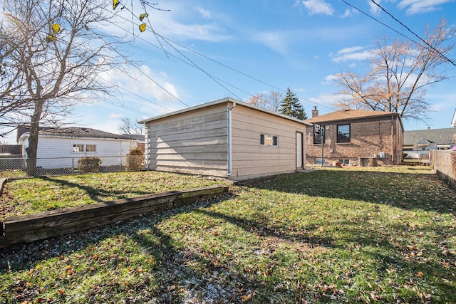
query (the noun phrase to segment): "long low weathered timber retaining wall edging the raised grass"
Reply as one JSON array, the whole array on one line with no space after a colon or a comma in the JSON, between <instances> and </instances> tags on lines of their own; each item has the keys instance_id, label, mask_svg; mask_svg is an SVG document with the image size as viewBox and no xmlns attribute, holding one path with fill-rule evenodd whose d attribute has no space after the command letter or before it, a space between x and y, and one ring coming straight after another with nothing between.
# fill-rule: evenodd
<instances>
[{"instance_id":1,"label":"long low weathered timber retaining wall edging the raised grass","mask_svg":"<svg viewBox=\"0 0 456 304\"><path fill-rule=\"evenodd\" d=\"M140 214L172 209L227 192L228 187L212 186L12 216L0 223L0 248L113 224Z\"/></svg>"}]
</instances>

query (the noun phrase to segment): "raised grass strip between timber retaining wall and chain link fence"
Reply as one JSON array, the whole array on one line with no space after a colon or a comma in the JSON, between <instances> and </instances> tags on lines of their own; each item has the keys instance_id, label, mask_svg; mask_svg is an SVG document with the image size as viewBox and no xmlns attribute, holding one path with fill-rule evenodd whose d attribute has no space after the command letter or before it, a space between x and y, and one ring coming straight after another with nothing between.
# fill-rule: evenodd
<instances>
[{"instance_id":1,"label":"raised grass strip between timber retaining wall and chain link fence","mask_svg":"<svg viewBox=\"0 0 456 304\"><path fill-rule=\"evenodd\" d=\"M167 172L117 172L15 179L0 197L0 217L83 206L100 201L223 184Z\"/></svg>"}]
</instances>

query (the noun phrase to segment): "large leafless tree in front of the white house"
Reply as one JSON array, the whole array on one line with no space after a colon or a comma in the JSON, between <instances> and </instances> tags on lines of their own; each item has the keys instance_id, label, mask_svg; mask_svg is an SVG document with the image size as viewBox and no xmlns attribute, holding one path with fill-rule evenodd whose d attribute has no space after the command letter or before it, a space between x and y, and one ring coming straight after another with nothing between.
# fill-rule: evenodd
<instances>
[{"instance_id":1,"label":"large leafless tree in front of the white house","mask_svg":"<svg viewBox=\"0 0 456 304\"><path fill-rule=\"evenodd\" d=\"M76 103L109 93L100 73L115 67L114 44L122 41L103 35L114 15L101 0L6 0L4 16L0 119L3 125L28 119L33 175L40 125L58 125Z\"/></svg>"}]
</instances>

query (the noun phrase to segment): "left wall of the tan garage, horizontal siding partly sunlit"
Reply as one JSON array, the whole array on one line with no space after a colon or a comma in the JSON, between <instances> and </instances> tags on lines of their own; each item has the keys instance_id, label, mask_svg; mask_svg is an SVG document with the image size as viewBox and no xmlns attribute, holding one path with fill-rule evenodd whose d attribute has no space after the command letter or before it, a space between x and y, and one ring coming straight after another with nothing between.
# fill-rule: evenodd
<instances>
[{"instance_id":1,"label":"left wall of the tan garage, horizontal siding partly sunlit","mask_svg":"<svg viewBox=\"0 0 456 304\"><path fill-rule=\"evenodd\" d=\"M227 174L227 105L147 122L149 169Z\"/></svg>"}]
</instances>

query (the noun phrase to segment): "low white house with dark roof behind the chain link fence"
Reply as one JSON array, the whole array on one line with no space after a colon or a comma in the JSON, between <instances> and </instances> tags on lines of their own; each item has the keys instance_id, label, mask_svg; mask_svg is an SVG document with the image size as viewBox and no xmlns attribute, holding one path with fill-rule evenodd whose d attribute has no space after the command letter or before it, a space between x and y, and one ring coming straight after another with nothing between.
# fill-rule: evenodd
<instances>
[{"instance_id":1,"label":"low white house with dark roof behind the chain link fence","mask_svg":"<svg viewBox=\"0 0 456 304\"><path fill-rule=\"evenodd\" d=\"M24 157L28 147L29 132L19 137L24 147ZM90 129L88 127L66 127L40 130L36 167L44 169L75 168L78 159L97 156L103 159L102 166L125 164L125 155L130 148L137 147L138 140L125 135Z\"/></svg>"}]
</instances>

